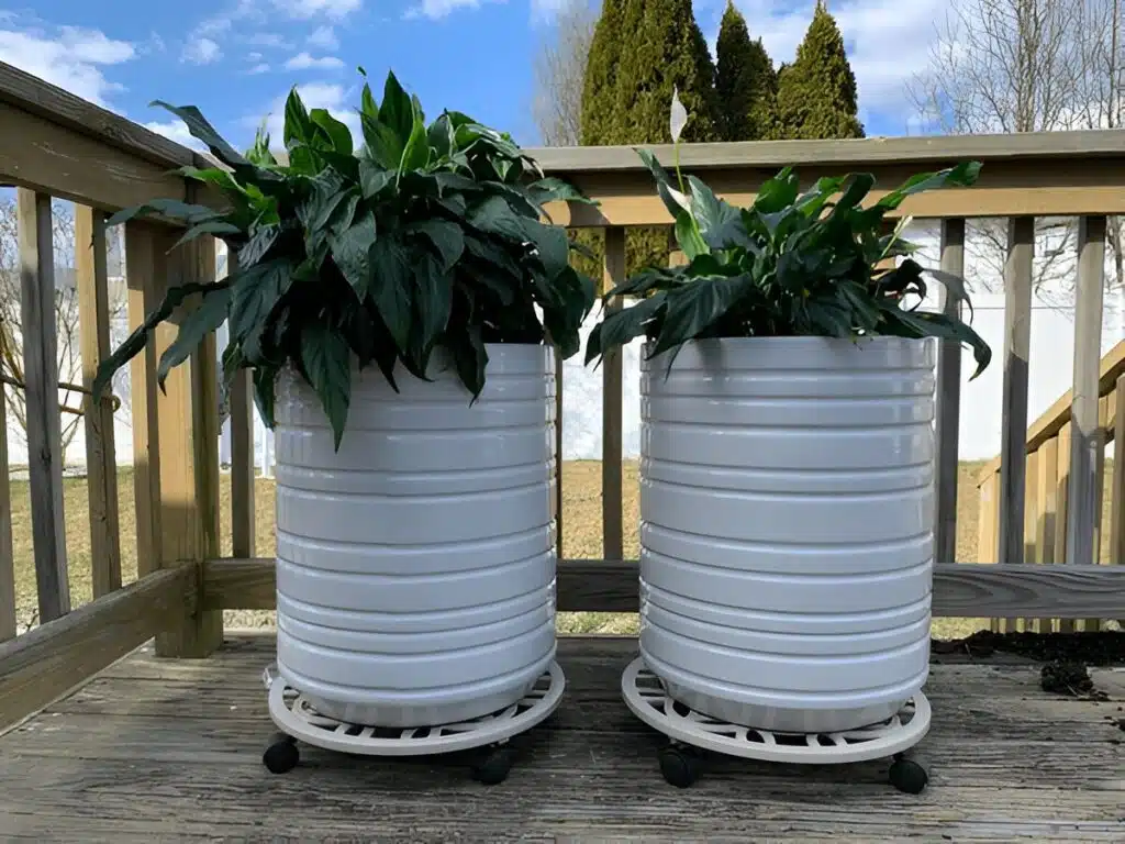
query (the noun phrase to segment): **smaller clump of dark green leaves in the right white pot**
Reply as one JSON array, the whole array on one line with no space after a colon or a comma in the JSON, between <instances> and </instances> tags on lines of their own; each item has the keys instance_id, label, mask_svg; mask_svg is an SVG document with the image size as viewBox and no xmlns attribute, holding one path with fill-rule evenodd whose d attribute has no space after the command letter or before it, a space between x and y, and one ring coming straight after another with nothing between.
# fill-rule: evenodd
<instances>
[{"instance_id":1,"label":"smaller clump of dark green leaves in the right white pot","mask_svg":"<svg viewBox=\"0 0 1125 844\"><path fill-rule=\"evenodd\" d=\"M587 363L637 336L648 339L654 357L701 338L889 334L957 340L975 354L973 377L988 366L991 350L969 325L917 309L926 296L925 273L950 296L968 300L964 281L924 270L898 231L883 234L886 214L908 196L972 185L979 163L915 176L866 207L861 204L875 183L867 173L824 178L801 194L786 168L762 186L753 206L736 208L695 177L687 177L686 196L677 196L655 156L641 151L641 158L676 219L676 240L690 263L642 270L609 291L606 297L639 300L594 327ZM899 257L904 260L894 268L882 266Z\"/></svg>"}]
</instances>

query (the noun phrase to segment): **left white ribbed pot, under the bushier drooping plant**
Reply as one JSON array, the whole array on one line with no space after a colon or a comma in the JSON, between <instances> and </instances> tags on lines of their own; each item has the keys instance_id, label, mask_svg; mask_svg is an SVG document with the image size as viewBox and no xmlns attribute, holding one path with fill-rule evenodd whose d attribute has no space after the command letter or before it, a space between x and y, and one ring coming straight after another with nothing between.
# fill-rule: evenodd
<instances>
[{"instance_id":1,"label":"left white ribbed pot, under the bushier drooping plant","mask_svg":"<svg viewBox=\"0 0 1125 844\"><path fill-rule=\"evenodd\" d=\"M350 722L433 726L519 700L555 656L554 357L488 345L471 406L353 369L339 452L312 389L277 395L278 671Z\"/></svg>"}]
</instances>

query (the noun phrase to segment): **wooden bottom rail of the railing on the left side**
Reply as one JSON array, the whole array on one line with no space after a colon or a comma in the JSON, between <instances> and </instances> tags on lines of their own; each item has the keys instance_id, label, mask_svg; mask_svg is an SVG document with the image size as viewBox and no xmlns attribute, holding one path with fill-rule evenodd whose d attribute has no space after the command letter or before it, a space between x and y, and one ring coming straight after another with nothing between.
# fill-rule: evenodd
<instances>
[{"instance_id":1,"label":"wooden bottom rail of the railing on the left side","mask_svg":"<svg viewBox=\"0 0 1125 844\"><path fill-rule=\"evenodd\" d=\"M0 644L0 733L191 611L196 572L159 572Z\"/></svg>"}]
</instances>

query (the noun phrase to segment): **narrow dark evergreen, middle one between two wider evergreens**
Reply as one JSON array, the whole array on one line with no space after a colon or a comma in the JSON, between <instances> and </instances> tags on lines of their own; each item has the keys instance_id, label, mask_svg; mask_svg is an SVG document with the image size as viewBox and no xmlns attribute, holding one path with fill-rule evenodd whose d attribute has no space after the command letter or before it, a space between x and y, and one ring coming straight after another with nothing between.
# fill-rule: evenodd
<instances>
[{"instance_id":1,"label":"narrow dark evergreen, middle one between two wider evergreens","mask_svg":"<svg viewBox=\"0 0 1125 844\"><path fill-rule=\"evenodd\" d=\"M722 141L760 141L774 133L777 75L762 39L750 41L746 19L727 5L716 45L717 124Z\"/></svg>"}]
</instances>

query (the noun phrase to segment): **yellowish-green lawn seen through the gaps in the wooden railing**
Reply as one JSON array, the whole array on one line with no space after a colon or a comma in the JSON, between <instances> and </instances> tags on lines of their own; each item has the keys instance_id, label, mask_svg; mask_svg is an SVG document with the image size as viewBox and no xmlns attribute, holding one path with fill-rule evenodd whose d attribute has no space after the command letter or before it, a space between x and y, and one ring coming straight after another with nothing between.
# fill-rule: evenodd
<instances>
[{"instance_id":1,"label":"yellowish-green lawn seen through the gaps in the wooden railing","mask_svg":"<svg viewBox=\"0 0 1125 844\"><path fill-rule=\"evenodd\" d=\"M957 559L975 562L976 558L976 472L980 464L961 465L957 496ZM1107 483L1112 472L1107 466ZM81 478L64 481L64 511L66 517L66 551L70 567L71 600L78 607L90 600L90 533L87 484ZM639 477L636 461L624 466L624 545L626 556L636 559L639 554L637 523L639 520ZM126 583L136 580L136 523L133 499L133 473L124 469L118 476L120 499L122 569ZM18 620L26 626L35 619L35 565L32 556L32 521L27 482L12 481L12 529L16 557L16 595ZM1109 496L1106 495L1108 509ZM273 538L273 482L256 482L256 510L259 556L272 556ZM568 558L597 558L602 556L601 464L597 461L569 461L562 465L562 522L564 555ZM1108 524L1108 521L1106 522ZM223 554L231 553L231 484L230 476L222 483ZM1108 530L1102 531L1102 546L1108 544ZM235 627L259 627L272 623L272 613L260 611L232 611L227 623ZM987 619L938 619L934 632L940 637L964 636L987 626ZM559 627L567 632L636 632L634 613L560 613Z\"/></svg>"}]
</instances>

